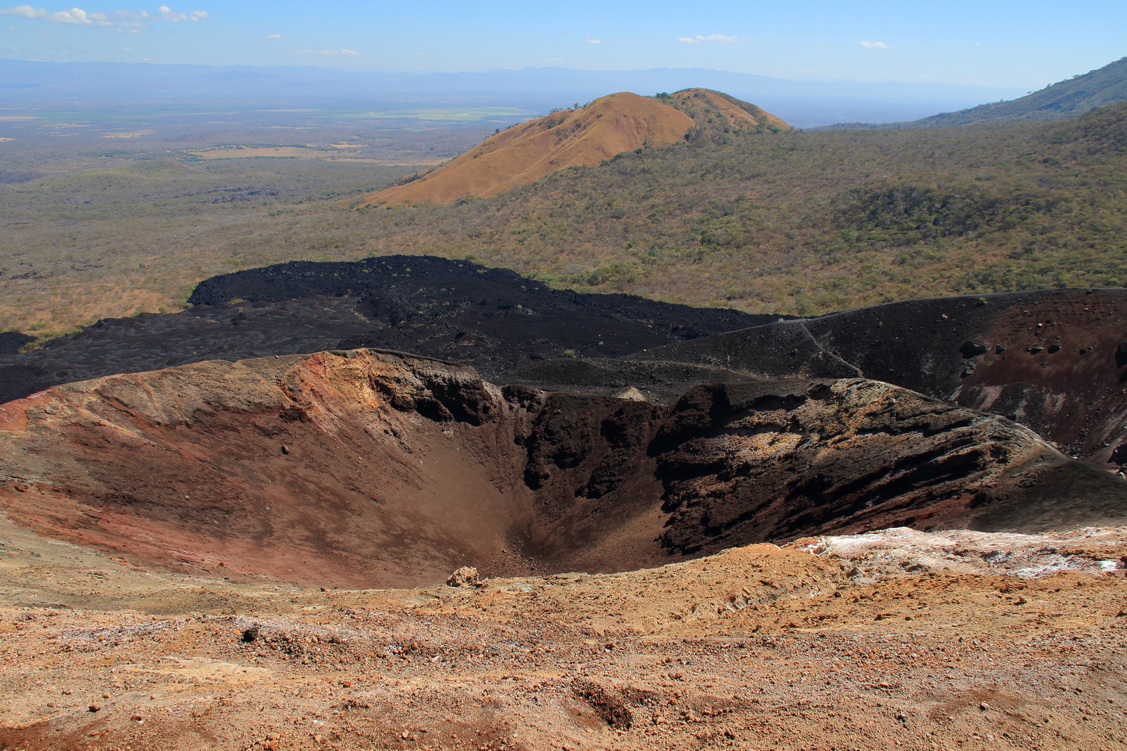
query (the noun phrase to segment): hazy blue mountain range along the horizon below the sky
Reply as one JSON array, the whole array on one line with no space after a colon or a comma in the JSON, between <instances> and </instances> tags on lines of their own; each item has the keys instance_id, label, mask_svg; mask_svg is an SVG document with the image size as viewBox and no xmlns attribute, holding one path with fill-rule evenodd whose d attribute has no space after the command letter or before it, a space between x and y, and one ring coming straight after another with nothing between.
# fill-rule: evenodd
<instances>
[{"instance_id":1,"label":"hazy blue mountain range along the horizon below the sky","mask_svg":"<svg viewBox=\"0 0 1127 751\"><path fill-rule=\"evenodd\" d=\"M704 87L754 101L796 127L890 123L1023 93L946 83L791 81L708 69L381 73L326 68L41 63L0 59L0 109L133 106L397 108L523 107L548 113L611 91L651 95Z\"/></svg>"}]
</instances>

